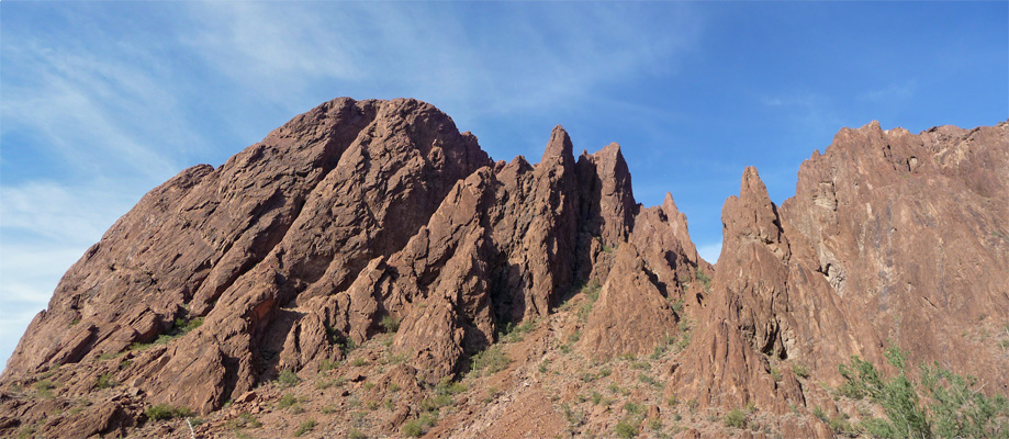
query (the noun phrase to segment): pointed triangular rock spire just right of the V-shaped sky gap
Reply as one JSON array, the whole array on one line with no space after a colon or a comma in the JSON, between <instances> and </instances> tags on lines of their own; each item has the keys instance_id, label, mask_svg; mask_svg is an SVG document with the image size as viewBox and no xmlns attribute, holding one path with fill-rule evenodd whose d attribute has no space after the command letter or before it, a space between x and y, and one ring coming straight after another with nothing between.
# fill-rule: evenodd
<instances>
[{"instance_id":1,"label":"pointed triangular rock spire just right of the V-shaped sky gap","mask_svg":"<svg viewBox=\"0 0 1009 439\"><path fill-rule=\"evenodd\" d=\"M791 226L755 169L745 169L739 196L726 201L722 223L710 304L666 392L702 406L754 404L776 414L806 406L794 361L817 365L825 352L840 352L829 362L836 370L843 361L836 357L874 353L879 344L863 349L845 339L853 325L827 282L810 275L811 251L788 239Z\"/></svg>"}]
</instances>

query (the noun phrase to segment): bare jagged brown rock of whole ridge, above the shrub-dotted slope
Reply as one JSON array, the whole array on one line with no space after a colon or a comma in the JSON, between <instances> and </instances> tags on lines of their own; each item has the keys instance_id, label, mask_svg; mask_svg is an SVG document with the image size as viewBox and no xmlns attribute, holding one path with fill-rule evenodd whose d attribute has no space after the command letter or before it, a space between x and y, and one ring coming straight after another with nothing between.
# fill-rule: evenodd
<instances>
[{"instance_id":1,"label":"bare jagged brown rock of whole ridge, above the shrub-dotted slope","mask_svg":"<svg viewBox=\"0 0 1009 439\"><path fill-rule=\"evenodd\" d=\"M845 128L781 209L747 168L713 267L672 195L635 201L617 144L575 159L557 126L538 164L495 162L429 104L337 99L145 195L66 273L0 389L61 365L77 397L113 375L121 396L46 434L122 432L142 405L206 414L395 323L404 364L389 379L419 392L592 284L579 351L644 356L690 331L665 393L702 407L828 407L772 369L836 384L840 362L879 360L887 339L1006 393L1004 352L977 334L1009 314L1007 144L1005 123ZM0 431L48 409L12 401Z\"/></svg>"}]
</instances>

